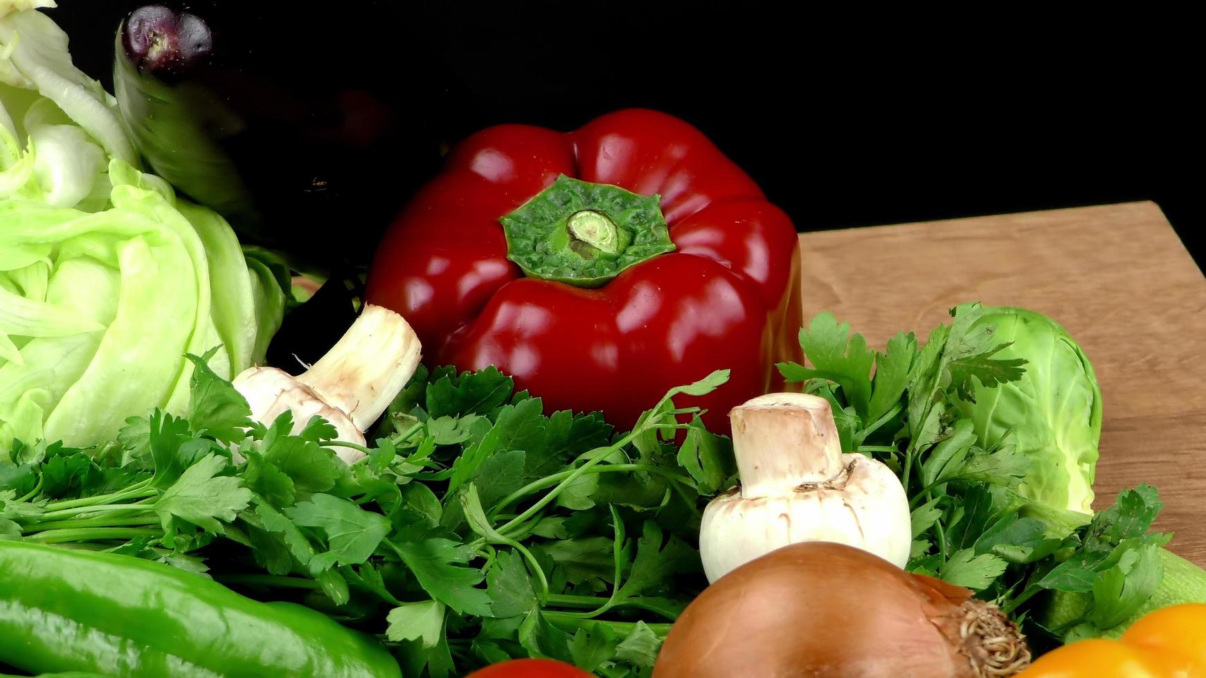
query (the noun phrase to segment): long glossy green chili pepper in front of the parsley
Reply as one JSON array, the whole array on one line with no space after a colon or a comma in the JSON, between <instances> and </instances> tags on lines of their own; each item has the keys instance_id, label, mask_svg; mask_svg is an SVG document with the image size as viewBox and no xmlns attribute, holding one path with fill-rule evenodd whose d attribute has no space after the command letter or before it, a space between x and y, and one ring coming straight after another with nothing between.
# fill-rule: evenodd
<instances>
[{"instance_id":1,"label":"long glossy green chili pepper in front of the parsley","mask_svg":"<svg viewBox=\"0 0 1206 678\"><path fill-rule=\"evenodd\" d=\"M111 676L400 677L370 637L127 555L0 541L0 664Z\"/></svg>"}]
</instances>

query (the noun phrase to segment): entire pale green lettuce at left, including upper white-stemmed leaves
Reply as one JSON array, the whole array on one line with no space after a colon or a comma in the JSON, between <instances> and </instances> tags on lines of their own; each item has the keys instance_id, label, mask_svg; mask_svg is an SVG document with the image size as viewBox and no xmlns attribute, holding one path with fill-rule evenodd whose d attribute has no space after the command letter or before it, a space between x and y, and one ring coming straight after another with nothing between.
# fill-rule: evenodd
<instances>
[{"instance_id":1,"label":"entire pale green lettuce at left, including upper white-stemmed leaves","mask_svg":"<svg viewBox=\"0 0 1206 678\"><path fill-rule=\"evenodd\" d=\"M0 16L0 461L182 411L192 362L263 361L285 297L222 217L140 172L111 98L36 11ZM87 122L87 124L86 124Z\"/></svg>"}]
</instances>

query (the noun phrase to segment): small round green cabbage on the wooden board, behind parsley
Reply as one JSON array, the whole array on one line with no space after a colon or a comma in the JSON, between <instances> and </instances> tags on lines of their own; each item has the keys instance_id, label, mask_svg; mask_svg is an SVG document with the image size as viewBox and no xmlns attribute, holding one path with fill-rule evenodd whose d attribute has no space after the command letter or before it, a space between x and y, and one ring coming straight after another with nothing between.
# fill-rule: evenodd
<instances>
[{"instance_id":1,"label":"small round green cabbage on the wooden board, behind parsley","mask_svg":"<svg viewBox=\"0 0 1206 678\"><path fill-rule=\"evenodd\" d=\"M1023 358L1026 371L990 389L977 383L976 402L960 402L964 415L982 444L1003 442L1030 458L1019 491L1042 515L1091 514L1101 388L1089 359L1064 328L1035 311L985 308L977 324L996 325L994 340L1013 342L994 358Z\"/></svg>"}]
</instances>

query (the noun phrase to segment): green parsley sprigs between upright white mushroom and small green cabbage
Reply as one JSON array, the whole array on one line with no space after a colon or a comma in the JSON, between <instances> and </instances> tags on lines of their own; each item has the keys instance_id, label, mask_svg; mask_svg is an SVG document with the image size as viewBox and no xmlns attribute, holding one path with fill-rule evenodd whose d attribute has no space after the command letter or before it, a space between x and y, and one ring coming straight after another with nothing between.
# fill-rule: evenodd
<instances>
[{"instance_id":1,"label":"green parsley sprigs between upright white mushroom and small green cabbage","mask_svg":"<svg viewBox=\"0 0 1206 678\"><path fill-rule=\"evenodd\" d=\"M883 353L821 314L800 332L809 366L779 370L830 401L843 449L874 456L900 477L912 507L909 571L978 591L1028 621L1032 637L1073 639L1087 625L1123 621L1163 576L1159 548L1171 536L1148 533L1163 508L1155 489L1125 490L1091 521L1071 524L1067 513L1020 495L1031 460L1008 436L983 444L956 401L972 400L973 379L995 388L1020 379L1026 364L994 358L1008 344L994 341L993 325L977 324L979 303L950 314L924 346L902 332ZM1029 613L1040 611L1044 591L1091 594L1091 601L1059 627L1041 629Z\"/></svg>"}]
</instances>

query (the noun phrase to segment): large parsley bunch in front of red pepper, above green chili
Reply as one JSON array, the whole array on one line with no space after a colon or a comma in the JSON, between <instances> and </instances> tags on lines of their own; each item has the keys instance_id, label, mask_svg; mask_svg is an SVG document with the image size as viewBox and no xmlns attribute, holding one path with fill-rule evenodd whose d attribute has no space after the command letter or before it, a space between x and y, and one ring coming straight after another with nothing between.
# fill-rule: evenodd
<instances>
[{"instance_id":1,"label":"large parsley bunch in front of red pepper, above green chili","mask_svg":"<svg viewBox=\"0 0 1206 678\"><path fill-rule=\"evenodd\" d=\"M183 417L131 418L93 449L17 444L0 465L0 538L153 559L377 633L406 674L550 656L644 676L706 584L707 497L734 476L727 438L673 389L631 432L544 415L497 370L420 370L367 456L334 429L253 424L204 358ZM352 446L358 447L358 446ZM270 642L270 639L265 639Z\"/></svg>"}]
</instances>

